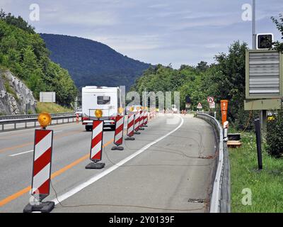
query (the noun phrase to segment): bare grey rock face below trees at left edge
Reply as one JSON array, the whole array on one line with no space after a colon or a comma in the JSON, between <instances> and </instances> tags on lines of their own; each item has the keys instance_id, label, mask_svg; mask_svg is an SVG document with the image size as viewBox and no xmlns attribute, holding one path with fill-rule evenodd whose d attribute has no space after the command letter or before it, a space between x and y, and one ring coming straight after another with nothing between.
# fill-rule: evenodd
<instances>
[{"instance_id":1,"label":"bare grey rock face below trees at left edge","mask_svg":"<svg viewBox=\"0 0 283 227\"><path fill-rule=\"evenodd\" d=\"M33 114L33 92L8 70L0 69L0 115Z\"/></svg>"}]
</instances>

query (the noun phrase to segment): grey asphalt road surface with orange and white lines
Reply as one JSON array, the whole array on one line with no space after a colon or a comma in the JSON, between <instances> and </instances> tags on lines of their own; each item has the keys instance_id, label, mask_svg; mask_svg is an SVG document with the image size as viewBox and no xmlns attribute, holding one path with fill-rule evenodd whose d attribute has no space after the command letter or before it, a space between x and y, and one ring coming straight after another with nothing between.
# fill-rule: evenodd
<instances>
[{"instance_id":1,"label":"grey asphalt road surface with orange and white lines","mask_svg":"<svg viewBox=\"0 0 283 227\"><path fill-rule=\"evenodd\" d=\"M52 212L208 211L216 142L205 121L159 116L135 141L124 141L123 151L111 150L114 132L105 130L102 170L85 170L91 133L81 124L49 129L54 189L45 201L55 201ZM0 212L28 204L33 140L33 128L0 133Z\"/></svg>"}]
</instances>

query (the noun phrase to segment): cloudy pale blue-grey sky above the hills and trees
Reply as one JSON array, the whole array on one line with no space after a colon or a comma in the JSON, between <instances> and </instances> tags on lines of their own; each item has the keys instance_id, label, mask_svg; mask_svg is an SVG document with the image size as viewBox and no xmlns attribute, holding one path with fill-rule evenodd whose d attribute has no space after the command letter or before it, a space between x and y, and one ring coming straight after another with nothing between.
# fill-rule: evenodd
<instances>
[{"instance_id":1,"label":"cloudy pale blue-grey sky above the hills and trees","mask_svg":"<svg viewBox=\"0 0 283 227\"><path fill-rule=\"evenodd\" d=\"M30 21L30 4L40 21ZM251 21L243 4L252 0L0 0L0 8L21 15L38 33L90 38L151 64L214 62L233 40L251 46ZM270 16L283 13L282 0L257 0L257 33L280 33Z\"/></svg>"}]
</instances>

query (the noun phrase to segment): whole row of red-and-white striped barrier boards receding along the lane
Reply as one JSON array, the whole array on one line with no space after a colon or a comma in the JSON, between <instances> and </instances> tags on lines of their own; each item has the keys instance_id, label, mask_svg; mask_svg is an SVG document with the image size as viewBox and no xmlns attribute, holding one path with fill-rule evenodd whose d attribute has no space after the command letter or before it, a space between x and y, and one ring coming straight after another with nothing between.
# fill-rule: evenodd
<instances>
[{"instance_id":1,"label":"whole row of red-and-white striped barrier boards receding along the lane","mask_svg":"<svg viewBox=\"0 0 283 227\"><path fill-rule=\"evenodd\" d=\"M138 131L147 127L148 116L148 111L142 110L137 111L136 114L129 114L126 116L129 123L127 126L127 135L129 138L134 136L134 131L135 133L140 134ZM25 206L23 209L24 213L32 213L34 211L49 213L54 208L53 201L42 201L50 194L53 131L47 130L46 128L50 125L52 118L49 114L42 113L38 116L38 121L42 128L35 129L33 177L32 189L30 190L30 194L33 196L33 202L30 202ZM125 116L118 115L116 116L115 121L115 134L113 140L115 147L111 150L124 150L121 145L123 143ZM91 162L86 165L87 170L99 170L105 167L105 163L101 162L103 152L103 128L103 120L97 119L93 121L89 157Z\"/></svg>"}]
</instances>

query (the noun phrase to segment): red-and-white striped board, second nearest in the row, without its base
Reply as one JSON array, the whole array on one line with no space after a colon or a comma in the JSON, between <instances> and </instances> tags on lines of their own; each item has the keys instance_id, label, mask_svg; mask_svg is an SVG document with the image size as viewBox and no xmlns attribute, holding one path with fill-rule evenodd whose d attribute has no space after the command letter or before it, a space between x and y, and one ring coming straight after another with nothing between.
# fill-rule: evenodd
<instances>
[{"instance_id":1,"label":"red-and-white striped board, second nearest in the row, without its base","mask_svg":"<svg viewBox=\"0 0 283 227\"><path fill-rule=\"evenodd\" d=\"M91 136L91 160L98 162L102 158L103 121L93 121L93 133Z\"/></svg>"}]
</instances>

